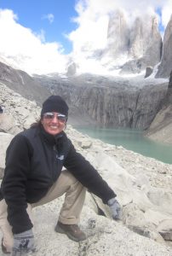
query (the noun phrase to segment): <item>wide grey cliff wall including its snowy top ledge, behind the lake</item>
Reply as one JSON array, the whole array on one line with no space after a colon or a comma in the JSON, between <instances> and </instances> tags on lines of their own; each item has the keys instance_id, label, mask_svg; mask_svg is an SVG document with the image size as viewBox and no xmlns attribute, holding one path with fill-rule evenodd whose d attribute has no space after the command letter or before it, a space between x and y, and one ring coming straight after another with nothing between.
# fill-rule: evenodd
<instances>
[{"instance_id":1,"label":"wide grey cliff wall including its snowy top ledge, behind the lake","mask_svg":"<svg viewBox=\"0 0 172 256\"><path fill-rule=\"evenodd\" d=\"M81 75L61 81L40 78L43 86L59 94L70 106L70 118L77 124L95 122L103 127L146 129L161 108L168 84L138 86L127 79L106 79Z\"/></svg>"}]
</instances>

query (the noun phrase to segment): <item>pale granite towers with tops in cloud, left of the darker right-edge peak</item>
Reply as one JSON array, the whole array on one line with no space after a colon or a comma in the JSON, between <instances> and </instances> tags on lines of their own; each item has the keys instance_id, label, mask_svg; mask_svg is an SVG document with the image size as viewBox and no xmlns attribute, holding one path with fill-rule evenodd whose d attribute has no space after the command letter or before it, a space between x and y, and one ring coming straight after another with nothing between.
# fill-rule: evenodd
<instances>
[{"instance_id":1,"label":"pale granite towers with tops in cloud, left of the darker right-edge peak","mask_svg":"<svg viewBox=\"0 0 172 256\"><path fill-rule=\"evenodd\" d=\"M121 11L110 16L107 47L102 58L109 57L106 66L122 68L121 73L140 73L154 67L161 59L162 38L155 16L136 18L129 25Z\"/></svg>"}]
</instances>

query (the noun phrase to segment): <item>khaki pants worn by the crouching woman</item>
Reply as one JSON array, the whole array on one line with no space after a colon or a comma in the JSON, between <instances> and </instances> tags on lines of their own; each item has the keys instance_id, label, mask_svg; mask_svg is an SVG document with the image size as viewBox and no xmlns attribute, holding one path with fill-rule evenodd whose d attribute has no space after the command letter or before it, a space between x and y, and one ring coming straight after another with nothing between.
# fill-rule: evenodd
<instances>
[{"instance_id":1,"label":"khaki pants worn by the crouching woman","mask_svg":"<svg viewBox=\"0 0 172 256\"><path fill-rule=\"evenodd\" d=\"M86 189L67 170L61 172L60 177L49 189L47 195L40 201L37 201L37 203L28 204L27 212L32 223L33 207L42 206L43 204L60 197L60 195L63 195L64 193L66 193L65 201L60 210L59 221L63 224L77 224L83 208ZM0 228L3 232L3 245L10 252L13 247L13 234L11 226L7 220L7 204L4 200L0 201Z\"/></svg>"}]
</instances>

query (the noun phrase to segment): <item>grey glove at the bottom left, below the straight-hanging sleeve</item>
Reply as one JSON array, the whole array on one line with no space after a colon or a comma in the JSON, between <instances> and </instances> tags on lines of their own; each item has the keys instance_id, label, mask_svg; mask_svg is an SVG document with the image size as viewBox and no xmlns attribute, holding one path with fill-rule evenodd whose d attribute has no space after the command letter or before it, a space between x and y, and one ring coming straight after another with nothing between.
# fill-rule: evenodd
<instances>
[{"instance_id":1,"label":"grey glove at the bottom left, below the straight-hanging sleeve","mask_svg":"<svg viewBox=\"0 0 172 256\"><path fill-rule=\"evenodd\" d=\"M26 255L35 252L34 236L32 230L26 230L20 234L14 234L14 246L12 256Z\"/></svg>"}]
</instances>

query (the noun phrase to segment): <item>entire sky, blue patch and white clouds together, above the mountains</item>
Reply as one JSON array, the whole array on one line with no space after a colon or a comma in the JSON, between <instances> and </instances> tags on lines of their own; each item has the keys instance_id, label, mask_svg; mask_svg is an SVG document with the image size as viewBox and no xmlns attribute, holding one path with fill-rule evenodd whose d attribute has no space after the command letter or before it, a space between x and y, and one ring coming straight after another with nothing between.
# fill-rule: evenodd
<instances>
[{"instance_id":1,"label":"entire sky, blue patch and white clouds together, above the mountains","mask_svg":"<svg viewBox=\"0 0 172 256\"><path fill-rule=\"evenodd\" d=\"M0 61L28 73L63 72L75 61L100 69L89 56L107 46L109 15L121 9L127 24L157 15L169 22L172 0L0 0ZM163 32L162 32L163 35Z\"/></svg>"}]
</instances>

